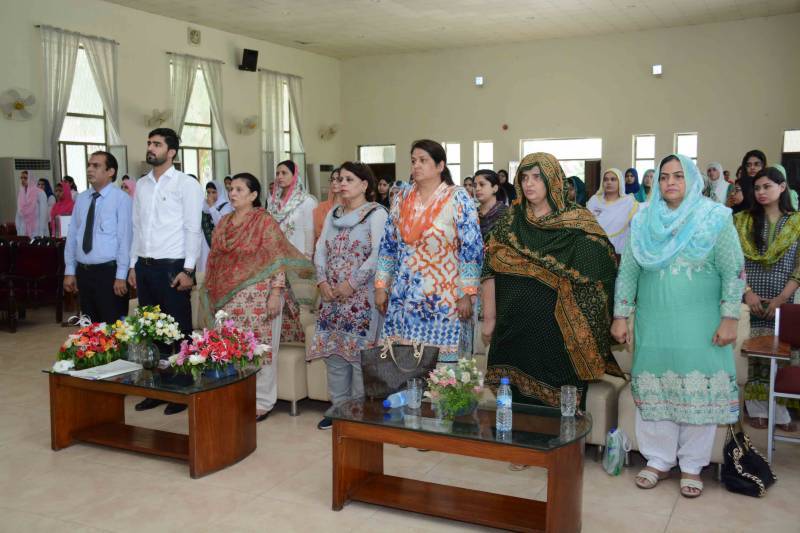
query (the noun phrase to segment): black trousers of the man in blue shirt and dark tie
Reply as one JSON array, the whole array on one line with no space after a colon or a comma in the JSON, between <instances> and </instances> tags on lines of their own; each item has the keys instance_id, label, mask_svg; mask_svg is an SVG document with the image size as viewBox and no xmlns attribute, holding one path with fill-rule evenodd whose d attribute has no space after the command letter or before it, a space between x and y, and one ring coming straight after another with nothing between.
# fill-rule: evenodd
<instances>
[{"instance_id":1,"label":"black trousers of the man in blue shirt and dark tie","mask_svg":"<svg viewBox=\"0 0 800 533\"><path fill-rule=\"evenodd\" d=\"M117 263L111 261L100 265L78 263L75 276L78 278L78 296L81 313L92 322L113 324L128 314L128 296L114 294Z\"/></svg>"}]
</instances>

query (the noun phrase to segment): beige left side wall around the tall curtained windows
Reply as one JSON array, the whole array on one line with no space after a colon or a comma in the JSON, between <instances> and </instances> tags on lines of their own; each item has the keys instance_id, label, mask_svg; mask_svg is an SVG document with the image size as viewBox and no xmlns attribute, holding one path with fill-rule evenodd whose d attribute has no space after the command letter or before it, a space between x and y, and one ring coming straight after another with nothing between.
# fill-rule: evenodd
<instances>
[{"instance_id":1,"label":"beige left side wall around the tall curtained windows","mask_svg":"<svg viewBox=\"0 0 800 533\"><path fill-rule=\"evenodd\" d=\"M122 137L133 171L144 160L145 115L166 109L169 99L166 51L221 59L225 129L231 170L261 174L261 137L243 136L237 124L259 113L258 74L237 69L242 48L259 51L259 67L303 77L304 124L308 162L335 162L337 139L323 142L317 131L341 123L337 59L192 25L202 30L201 46L187 43L189 23L95 0L2 0L0 3L0 91L23 87L43 103L42 52L35 24L113 38L119 46L119 98ZM0 156L43 155L43 109L28 122L0 119Z\"/></svg>"}]
</instances>

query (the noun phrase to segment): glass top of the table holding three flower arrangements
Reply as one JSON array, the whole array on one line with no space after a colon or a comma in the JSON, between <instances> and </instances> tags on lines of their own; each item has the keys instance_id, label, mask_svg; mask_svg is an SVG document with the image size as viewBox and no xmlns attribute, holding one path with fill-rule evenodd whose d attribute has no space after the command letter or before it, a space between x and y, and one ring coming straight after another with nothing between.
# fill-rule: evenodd
<instances>
[{"instance_id":1,"label":"glass top of the table holding three flower arrangements","mask_svg":"<svg viewBox=\"0 0 800 533\"><path fill-rule=\"evenodd\" d=\"M235 374L223 376L219 378L210 376L199 376L194 379L191 374L179 374L171 369L153 369L153 370L136 370L134 372L127 372L125 374L118 374L104 379L87 380L87 381L105 381L110 383L120 383L123 385L131 385L133 387L140 387L142 389L160 390L175 392L178 394L195 394L218 387L224 387L231 383L236 383L246 379L260 368L247 367L237 369ZM61 376L71 377L68 374L59 374L50 369L44 370L46 374L55 374ZM82 379L82 378L75 378Z\"/></svg>"}]
</instances>

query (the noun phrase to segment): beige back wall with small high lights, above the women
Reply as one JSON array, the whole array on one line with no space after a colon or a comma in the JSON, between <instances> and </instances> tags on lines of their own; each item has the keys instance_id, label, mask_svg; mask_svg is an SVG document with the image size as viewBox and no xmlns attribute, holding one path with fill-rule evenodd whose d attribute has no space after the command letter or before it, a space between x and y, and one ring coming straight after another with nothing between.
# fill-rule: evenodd
<instances>
[{"instance_id":1,"label":"beige back wall with small high lights, above the women","mask_svg":"<svg viewBox=\"0 0 800 533\"><path fill-rule=\"evenodd\" d=\"M344 148L396 144L407 176L414 139L460 142L467 175L475 140L494 141L497 169L518 159L523 138L602 137L603 166L624 169L632 135L655 133L663 155L674 133L697 131L702 164L735 169L753 147L775 161L783 131L800 128L798 27L789 15L346 60Z\"/></svg>"}]
</instances>

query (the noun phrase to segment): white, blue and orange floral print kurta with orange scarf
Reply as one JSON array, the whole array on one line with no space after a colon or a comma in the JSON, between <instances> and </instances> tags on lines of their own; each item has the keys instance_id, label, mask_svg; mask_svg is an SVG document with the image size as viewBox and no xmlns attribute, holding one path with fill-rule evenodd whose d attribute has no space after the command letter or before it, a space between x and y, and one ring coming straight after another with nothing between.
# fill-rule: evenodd
<instances>
[{"instance_id":1,"label":"white, blue and orange floral print kurta with orange scarf","mask_svg":"<svg viewBox=\"0 0 800 533\"><path fill-rule=\"evenodd\" d=\"M400 235L400 204L395 196L381 241L375 287L389 290L383 335L391 342L424 342L439 347L439 361L459 354L462 328L457 302L476 295L483 266L475 203L455 187L433 224L414 244Z\"/></svg>"}]
</instances>

